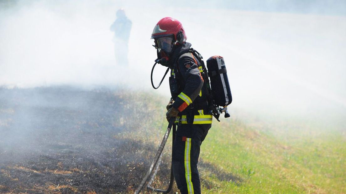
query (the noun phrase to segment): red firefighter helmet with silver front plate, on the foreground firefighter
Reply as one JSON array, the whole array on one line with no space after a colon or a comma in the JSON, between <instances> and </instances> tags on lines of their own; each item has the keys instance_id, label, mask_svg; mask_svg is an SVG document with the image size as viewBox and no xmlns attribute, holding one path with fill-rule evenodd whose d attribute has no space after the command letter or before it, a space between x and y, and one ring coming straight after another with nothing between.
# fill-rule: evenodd
<instances>
[{"instance_id":1,"label":"red firefighter helmet with silver front plate, on the foreground firefighter","mask_svg":"<svg viewBox=\"0 0 346 194\"><path fill-rule=\"evenodd\" d=\"M174 36L174 40L177 43L184 43L187 39L185 30L181 22L171 17L165 17L157 22L151 38L171 35Z\"/></svg>"}]
</instances>

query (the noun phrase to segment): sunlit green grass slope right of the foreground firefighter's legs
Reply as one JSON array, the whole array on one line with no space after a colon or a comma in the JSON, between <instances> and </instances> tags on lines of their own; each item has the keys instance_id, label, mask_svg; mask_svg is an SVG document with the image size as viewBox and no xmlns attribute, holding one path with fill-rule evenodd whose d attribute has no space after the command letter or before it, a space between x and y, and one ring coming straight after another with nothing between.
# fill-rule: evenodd
<instances>
[{"instance_id":1,"label":"sunlit green grass slope right of the foreground firefighter's legs","mask_svg":"<svg viewBox=\"0 0 346 194\"><path fill-rule=\"evenodd\" d=\"M213 122L200 159L239 181L202 170L202 179L212 183L202 184L203 193L346 193L345 134L303 123L299 130L290 127L295 125L273 130L274 123Z\"/></svg>"}]
</instances>

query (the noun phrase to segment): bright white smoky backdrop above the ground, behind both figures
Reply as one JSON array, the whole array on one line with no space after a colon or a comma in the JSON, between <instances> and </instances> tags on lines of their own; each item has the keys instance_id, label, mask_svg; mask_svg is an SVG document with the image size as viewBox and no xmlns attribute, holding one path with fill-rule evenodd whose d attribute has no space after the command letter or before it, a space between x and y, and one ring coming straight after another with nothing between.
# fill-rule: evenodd
<instances>
[{"instance_id":1,"label":"bright white smoky backdrop above the ground, behind both figures","mask_svg":"<svg viewBox=\"0 0 346 194\"><path fill-rule=\"evenodd\" d=\"M151 88L150 35L169 16L183 23L205 60L224 57L231 107L345 114L345 1L0 2L0 86L121 86L168 101L167 77ZM109 30L119 8L132 21L128 67L116 64ZM156 85L164 71L155 69Z\"/></svg>"}]
</instances>

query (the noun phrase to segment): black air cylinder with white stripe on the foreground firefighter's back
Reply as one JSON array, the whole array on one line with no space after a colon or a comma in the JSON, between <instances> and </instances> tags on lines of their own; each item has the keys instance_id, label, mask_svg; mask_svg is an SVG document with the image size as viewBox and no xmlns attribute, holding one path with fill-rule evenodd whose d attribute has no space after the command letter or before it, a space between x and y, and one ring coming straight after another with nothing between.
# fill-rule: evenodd
<instances>
[{"instance_id":1,"label":"black air cylinder with white stripe on the foreground firefighter's back","mask_svg":"<svg viewBox=\"0 0 346 194\"><path fill-rule=\"evenodd\" d=\"M207 60L207 69L215 105L225 107L231 104L232 94L224 58L218 55L210 57Z\"/></svg>"}]
</instances>

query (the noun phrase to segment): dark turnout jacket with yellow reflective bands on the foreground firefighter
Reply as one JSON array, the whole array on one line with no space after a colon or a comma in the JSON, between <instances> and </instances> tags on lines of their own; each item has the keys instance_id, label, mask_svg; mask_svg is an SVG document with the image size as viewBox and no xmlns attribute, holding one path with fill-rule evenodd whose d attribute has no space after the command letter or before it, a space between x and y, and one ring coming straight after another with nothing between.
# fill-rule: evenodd
<instances>
[{"instance_id":1,"label":"dark turnout jacket with yellow reflective bands on the foreground firefighter","mask_svg":"<svg viewBox=\"0 0 346 194\"><path fill-rule=\"evenodd\" d=\"M173 107L179 110L177 122L181 124L211 124L206 98L206 86L201 76L202 67L198 56L191 50L191 43L175 49L172 57L174 62L171 70L170 87ZM176 80L176 89L174 89ZM172 89L173 88L173 89Z\"/></svg>"}]
</instances>

